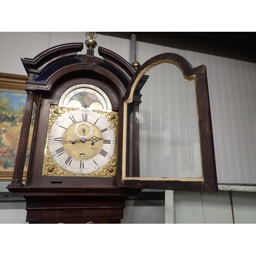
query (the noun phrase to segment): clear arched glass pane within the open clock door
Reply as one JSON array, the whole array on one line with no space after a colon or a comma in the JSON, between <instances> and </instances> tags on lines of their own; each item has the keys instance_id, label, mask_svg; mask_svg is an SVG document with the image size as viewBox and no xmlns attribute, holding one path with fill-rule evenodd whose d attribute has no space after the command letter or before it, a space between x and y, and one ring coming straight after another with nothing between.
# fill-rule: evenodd
<instances>
[{"instance_id":1,"label":"clear arched glass pane within the open clock door","mask_svg":"<svg viewBox=\"0 0 256 256\"><path fill-rule=\"evenodd\" d=\"M140 177L202 178L195 81L175 65L149 75L139 106Z\"/></svg>"}]
</instances>

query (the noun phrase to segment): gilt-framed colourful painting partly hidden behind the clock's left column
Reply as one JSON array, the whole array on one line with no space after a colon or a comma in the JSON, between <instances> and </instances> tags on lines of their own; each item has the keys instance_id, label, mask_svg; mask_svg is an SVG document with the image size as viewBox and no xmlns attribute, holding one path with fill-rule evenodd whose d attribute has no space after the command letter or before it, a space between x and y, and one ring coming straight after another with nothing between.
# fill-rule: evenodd
<instances>
[{"instance_id":1,"label":"gilt-framed colourful painting partly hidden behind the clock's left column","mask_svg":"<svg viewBox=\"0 0 256 256\"><path fill-rule=\"evenodd\" d=\"M26 81L28 81L28 76L0 73L0 180L12 179L27 98ZM32 117L24 179L26 178L33 121Z\"/></svg>"}]
</instances>

